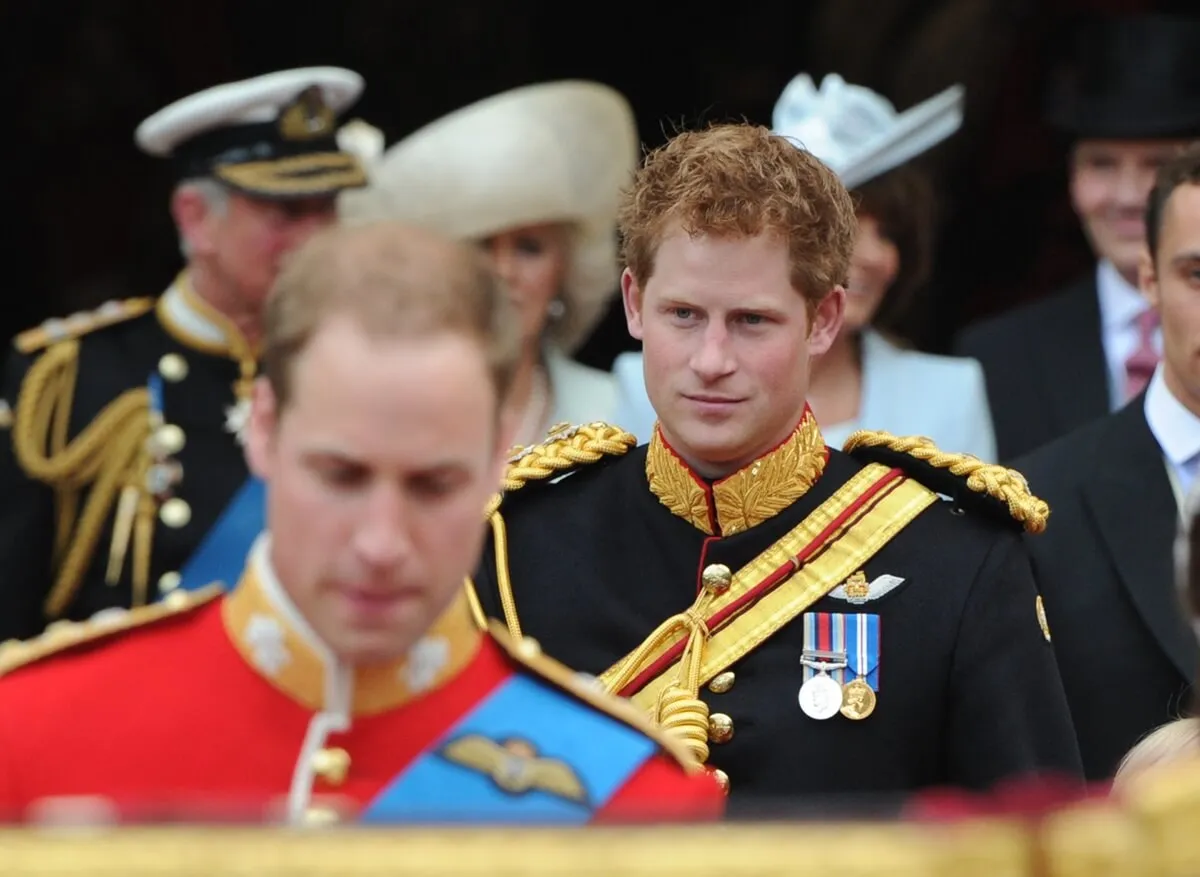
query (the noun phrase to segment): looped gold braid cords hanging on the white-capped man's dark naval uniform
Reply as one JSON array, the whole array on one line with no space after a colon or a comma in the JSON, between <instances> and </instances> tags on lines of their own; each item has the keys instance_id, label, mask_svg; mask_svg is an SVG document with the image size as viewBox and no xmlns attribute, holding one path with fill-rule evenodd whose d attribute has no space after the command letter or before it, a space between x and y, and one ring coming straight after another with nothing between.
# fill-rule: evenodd
<instances>
[{"instance_id":1,"label":"looped gold braid cords hanging on the white-capped man's dark naval uniform","mask_svg":"<svg viewBox=\"0 0 1200 877\"><path fill-rule=\"evenodd\" d=\"M25 374L12 431L18 464L55 493L55 571L43 607L52 619L66 611L78 591L116 495L144 483L149 459L144 447L150 434L150 398L144 388L118 396L68 440L78 368L78 341L48 347ZM80 512L79 499L89 486ZM136 517L134 578L148 579L154 501L138 503ZM134 581L134 594L140 593L142 602L145 588L145 581Z\"/></svg>"}]
</instances>

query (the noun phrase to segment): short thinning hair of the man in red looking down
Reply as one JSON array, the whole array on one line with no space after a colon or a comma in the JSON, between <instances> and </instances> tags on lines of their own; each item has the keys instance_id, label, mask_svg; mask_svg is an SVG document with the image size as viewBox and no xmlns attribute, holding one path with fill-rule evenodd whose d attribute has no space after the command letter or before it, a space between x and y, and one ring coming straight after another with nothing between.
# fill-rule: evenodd
<instances>
[{"instance_id":1,"label":"short thinning hair of the man in red looking down","mask_svg":"<svg viewBox=\"0 0 1200 877\"><path fill-rule=\"evenodd\" d=\"M396 222L335 226L287 259L263 322L263 373L280 408L292 398L295 360L331 318L353 318L372 337L460 334L479 342L497 400L508 397L521 356L517 314L475 247Z\"/></svg>"}]
</instances>

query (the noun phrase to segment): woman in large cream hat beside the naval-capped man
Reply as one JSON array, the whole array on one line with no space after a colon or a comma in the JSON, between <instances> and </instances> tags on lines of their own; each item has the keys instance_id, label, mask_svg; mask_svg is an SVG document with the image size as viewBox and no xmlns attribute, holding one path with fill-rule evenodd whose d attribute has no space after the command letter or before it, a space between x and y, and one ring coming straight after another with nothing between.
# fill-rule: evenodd
<instances>
[{"instance_id":1,"label":"woman in large cream hat beside the naval-capped man","mask_svg":"<svg viewBox=\"0 0 1200 877\"><path fill-rule=\"evenodd\" d=\"M544 83L420 128L368 161L370 186L340 202L346 222L412 222L492 256L527 347L514 383L518 444L557 422L613 419L613 377L570 355L617 292L617 203L637 158L634 114L617 91Z\"/></svg>"}]
</instances>

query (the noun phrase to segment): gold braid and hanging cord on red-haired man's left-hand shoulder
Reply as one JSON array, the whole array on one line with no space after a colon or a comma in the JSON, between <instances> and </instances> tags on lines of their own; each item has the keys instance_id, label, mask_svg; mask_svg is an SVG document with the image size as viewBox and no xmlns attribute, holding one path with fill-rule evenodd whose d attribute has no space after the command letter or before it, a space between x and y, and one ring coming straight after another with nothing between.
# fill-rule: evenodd
<instances>
[{"instance_id":1,"label":"gold braid and hanging cord on red-haired man's left-hand shoulder","mask_svg":"<svg viewBox=\"0 0 1200 877\"><path fill-rule=\"evenodd\" d=\"M542 481L589 463L599 463L605 457L619 457L637 446L637 439L624 430L595 422L586 426L556 424L541 444L516 447L509 457L504 471L503 493L492 497L485 516L492 528L492 546L496 554L496 589L504 609L504 624L516 642L522 638L521 619L517 615L512 579L509 576L509 541L504 517L499 512L504 497L520 491L527 483ZM479 602L474 583L467 579L467 595L472 614L482 629L487 627L484 607Z\"/></svg>"}]
</instances>

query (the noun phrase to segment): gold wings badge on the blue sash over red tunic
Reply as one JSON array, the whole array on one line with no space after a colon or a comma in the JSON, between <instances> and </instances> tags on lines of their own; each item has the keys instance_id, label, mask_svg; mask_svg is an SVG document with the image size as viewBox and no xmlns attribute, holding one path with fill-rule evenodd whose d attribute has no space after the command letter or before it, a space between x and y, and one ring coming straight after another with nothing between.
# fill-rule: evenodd
<instances>
[{"instance_id":1,"label":"gold wings badge on the blue sash over red tunic","mask_svg":"<svg viewBox=\"0 0 1200 877\"><path fill-rule=\"evenodd\" d=\"M533 744L508 739L502 743L481 734L467 734L442 747L442 757L492 779L509 794L545 792L587 805L588 794L575 770L557 758L542 758Z\"/></svg>"}]
</instances>

